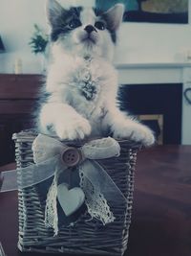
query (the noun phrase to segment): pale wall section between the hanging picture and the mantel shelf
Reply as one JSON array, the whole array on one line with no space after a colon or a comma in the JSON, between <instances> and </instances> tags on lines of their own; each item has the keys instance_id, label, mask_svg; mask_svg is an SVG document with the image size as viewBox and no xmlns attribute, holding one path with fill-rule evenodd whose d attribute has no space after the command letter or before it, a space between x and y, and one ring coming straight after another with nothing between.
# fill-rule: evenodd
<instances>
[{"instance_id":1,"label":"pale wall section between the hanging picture and the mantel shelf","mask_svg":"<svg viewBox=\"0 0 191 256\"><path fill-rule=\"evenodd\" d=\"M123 23L119 38L122 63L180 62L191 55L191 24Z\"/></svg>"}]
</instances>

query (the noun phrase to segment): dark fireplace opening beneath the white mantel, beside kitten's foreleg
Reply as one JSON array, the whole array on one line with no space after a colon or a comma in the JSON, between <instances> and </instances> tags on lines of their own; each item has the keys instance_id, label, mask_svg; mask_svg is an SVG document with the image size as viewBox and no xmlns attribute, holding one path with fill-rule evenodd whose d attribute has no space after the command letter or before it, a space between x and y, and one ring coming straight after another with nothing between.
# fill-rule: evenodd
<instances>
[{"instance_id":1,"label":"dark fireplace opening beneath the white mantel, beside kitten's foreleg","mask_svg":"<svg viewBox=\"0 0 191 256\"><path fill-rule=\"evenodd\" d=\"M121 110L155 131L159 144L181 143L182 83L125 84L118 99Z\"/></svg>"}]
</instances>

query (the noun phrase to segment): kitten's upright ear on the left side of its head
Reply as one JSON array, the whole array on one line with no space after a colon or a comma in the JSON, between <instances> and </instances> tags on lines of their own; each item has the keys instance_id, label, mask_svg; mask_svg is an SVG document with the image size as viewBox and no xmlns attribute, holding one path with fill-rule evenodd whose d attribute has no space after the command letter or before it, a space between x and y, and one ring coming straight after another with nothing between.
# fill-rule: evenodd
<instances>
[{"instance_id":1,"label":"kitten's upright ear on the left side of its head","mask_svg":"<svg viewBox=\"0 0 191 256\"><path fill-rule=\"evenodd\" d=\"M48 23L53 26L59 17L65 10L63 7L55 0L47 0L46 12Z\"/></svg>"}]
</instances>

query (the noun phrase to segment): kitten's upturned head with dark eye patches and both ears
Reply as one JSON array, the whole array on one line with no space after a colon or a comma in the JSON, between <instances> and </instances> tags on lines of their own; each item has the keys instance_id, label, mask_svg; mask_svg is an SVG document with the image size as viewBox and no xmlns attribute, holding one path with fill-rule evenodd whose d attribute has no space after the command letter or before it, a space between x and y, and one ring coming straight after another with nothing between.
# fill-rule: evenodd
<instances>
[{"instance_id":1,"label":"kitten's upturned head with dark eye patches and both ears","mask_svg":"<svg viewBox=\"0 0 191 256\"><path fill-rule=\"evenodd\" d=\"M98 14L91 8L65 10L55 0L49 0L52 41L56 47L73 55L111 59L122 14L122 5Z\"/></svg>"}]
</instances>

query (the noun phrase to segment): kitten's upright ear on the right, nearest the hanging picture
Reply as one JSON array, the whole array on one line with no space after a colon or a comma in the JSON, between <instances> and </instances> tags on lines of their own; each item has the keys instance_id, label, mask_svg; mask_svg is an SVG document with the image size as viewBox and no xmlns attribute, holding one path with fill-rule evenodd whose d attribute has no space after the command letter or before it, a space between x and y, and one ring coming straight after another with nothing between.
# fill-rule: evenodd
<instances>
[{"instance_id":1,"label":"kitten's upright ear on the right, nearest the hanging picture","mask_svg":"<svg viewBox=\"0 0 191 256\"><path fill-rule=\"evenodd\" d=\"M117 31L119 28L120 23L122 22L124 9L123 4L117 4L107 12L103 13L104 19L106 19L108 26L112 31Z\"/></svg>"}]
</instances>

